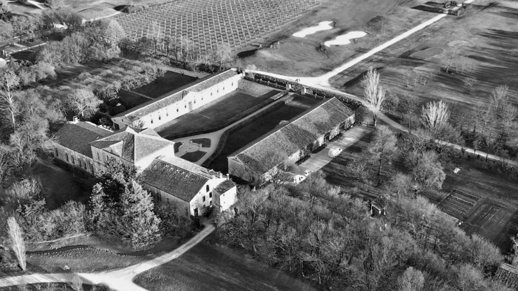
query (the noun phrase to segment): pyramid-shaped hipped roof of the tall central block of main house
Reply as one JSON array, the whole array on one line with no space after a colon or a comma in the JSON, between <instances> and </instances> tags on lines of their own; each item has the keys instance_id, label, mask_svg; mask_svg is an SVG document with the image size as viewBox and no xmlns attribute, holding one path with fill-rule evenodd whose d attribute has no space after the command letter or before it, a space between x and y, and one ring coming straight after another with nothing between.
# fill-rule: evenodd
<instances>
[{"instance_id":1,"label":"pyramid-shaped hipped roof of the tall central block of main house","mask_svg":"<svg viewBox=\"0 0 518 291\"><path fill-rule=\"evenodd\" d=\"M109 149L108 147L122 141L121 149ZM137 129L126 126L111 136L90 142L90 145L107 150L113 154L119 155L128 162L136 163L140 159L159 151L172 144L171 141L160 137L153 129Z\"/></svg>"}]
</instances>

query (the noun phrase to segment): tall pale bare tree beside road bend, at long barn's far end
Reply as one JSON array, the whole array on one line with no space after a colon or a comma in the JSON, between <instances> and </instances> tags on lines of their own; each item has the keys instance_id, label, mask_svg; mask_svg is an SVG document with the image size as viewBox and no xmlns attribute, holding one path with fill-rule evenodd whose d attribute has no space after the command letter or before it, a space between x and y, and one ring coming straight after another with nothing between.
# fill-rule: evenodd
<instances>
[{"instance_id":1,"label":"tall pale bare tree beside road bend, at long barn's far end","mask_svg":"<svg viewBox=\"0 0 518 291\"><path fill-rule=\"evenodd\" d=\"M372 126L376 127L378 113L383 108L385 90L380 85L380 74L372 67L362 80L364 96L367 99L367 107L372 114Z\"/></svg>"}]
</instances>

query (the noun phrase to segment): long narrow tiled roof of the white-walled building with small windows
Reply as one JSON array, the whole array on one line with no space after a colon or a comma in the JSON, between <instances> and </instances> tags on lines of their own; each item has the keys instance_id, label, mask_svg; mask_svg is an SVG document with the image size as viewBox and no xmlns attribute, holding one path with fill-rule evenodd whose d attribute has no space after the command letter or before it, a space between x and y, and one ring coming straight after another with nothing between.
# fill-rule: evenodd
<instances>
[{"instance_id":1,"label":"long narrow tiled roof of the white-walled building with small windows","mask_svg":"<svg viewBox=\"0 0 518 291\"><path fill-rule=\"evenodd\" d=\"M154 98L153 100L149 100L146 103L142 103L138 106L135 106L129 110L126 110L122 113L115 115L115 117L125 116L130 120L136 120L140 117L143 117L151 112L156 110L160 110L162 108L167 107L168 105L174 104L182 99L183 91L189 92L199 92L205 90L215 84L218 84L228 78L236 76L236 71L233 69L229 69L226 71L218 72L212 75L209 75L205 78L194 81L193 83L189 83L185 86L182 86L172 92L164 94L160 97Z\"/></svg>"}]
</instances>

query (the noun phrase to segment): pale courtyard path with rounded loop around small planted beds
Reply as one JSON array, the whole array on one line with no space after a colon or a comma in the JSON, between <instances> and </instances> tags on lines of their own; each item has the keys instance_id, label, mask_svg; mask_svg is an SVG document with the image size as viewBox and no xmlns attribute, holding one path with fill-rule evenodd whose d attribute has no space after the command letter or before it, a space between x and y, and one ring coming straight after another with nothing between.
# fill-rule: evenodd
<instances>
[{"instance_id":1,"label":"pale courtyard path with rounded loop around small planted beds","mask_svg":"<svg viewBox=\"0 0 518 291\"><path fill-rule=\"evenodd\" d=\"M214 151L218 147L218 143L220 142L221 136L223 135L225 130L227 130L229 128L232 128L232 127L236 126L239 123L242 123L242 122L245 122L245 121L251 119L255 115L260 114L261 112L267 110L268 108L270 108L272 106L275 106L279 102L284 102L284 100L286 100L286 98L289 97L290 95L291 95L291 93L286 95L286 96L283 96L282 98L279 98L278 100L275 100L274 102L268 104L267 106L265 106L265 107L255 111L255 112L253 112L250 115L247 115L246 117L244 117L244 118L242 118L242 119L232 123L231 125L228 125L228 126L222 128L220 130L217 130L215 132L206 133L206 134L200 134L200 135L195 135L195 136L182 137L182 138L178 138L178 139L175 139L175 140L172 140L172 141L174 141L174 142L182 142L183 144L189 144L191 139L209 138L210 139L210 147L209 148L204 148L204 147L200 147L199 148L200 151L204 151L204 152L207 152L207 153L202 158L198 159L198 161L196 161L194 163L196 165L202 165L205 161L207 161L207 159L214 153ZM186 153L187 153L187 148L184 147L184 149L182 149L182 147L180 147L178 153L176 153L175 155L178 156L178 157L181 157L182 155L184 155Z\"/></svg>"}]
</instances>

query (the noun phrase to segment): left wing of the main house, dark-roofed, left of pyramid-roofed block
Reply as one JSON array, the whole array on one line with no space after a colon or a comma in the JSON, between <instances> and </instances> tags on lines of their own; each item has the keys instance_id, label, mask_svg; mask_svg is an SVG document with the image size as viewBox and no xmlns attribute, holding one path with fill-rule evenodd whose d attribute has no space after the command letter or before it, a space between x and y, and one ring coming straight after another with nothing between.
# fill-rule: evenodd
<instances>
[{"instance_id":1,"label":"left wing of the main house, dark-roofed, left of pyramid-roofed block","mask_svg":"<svg viewBox=\"0 0 518 291\"><path fill-rule=\"evenodd\" d=\"M89 142L113 134L111 130L91 122L68 122L57 130L54 156L72 166L94 173L94 161Z\"/></svg>"}]
</instances>

